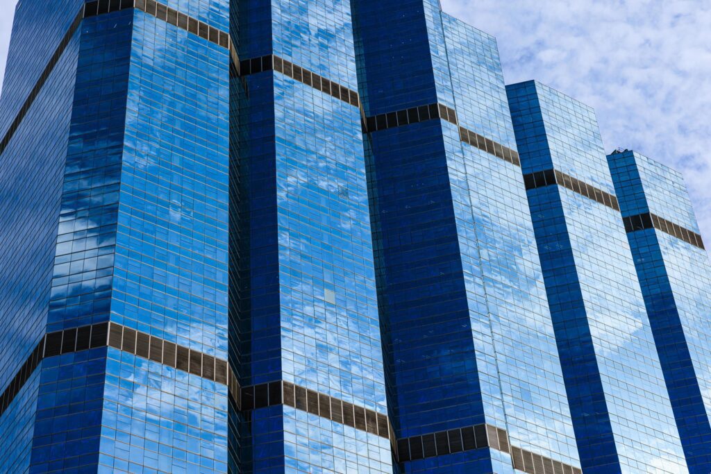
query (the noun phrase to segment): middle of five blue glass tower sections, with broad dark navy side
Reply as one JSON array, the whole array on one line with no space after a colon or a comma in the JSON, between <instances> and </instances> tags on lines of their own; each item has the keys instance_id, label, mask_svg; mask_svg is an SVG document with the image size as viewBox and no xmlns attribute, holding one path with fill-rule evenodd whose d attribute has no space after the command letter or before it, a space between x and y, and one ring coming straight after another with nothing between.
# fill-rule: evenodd
<instances>
[{"instance_id":1,"label":"middle of five blue glass tower sections, with broad dark navy side","mask_svg":"<svg viewBox=\"0 0 711 474\"><path fill-rule=\"evenodd\" d=\"M437 2L352 4L402 465L513 472L523 450L531 472L533 460L579 470L496 41ZM411 119L430 106L452 112ZM428 446L435 433L483 424L506 433L506 446L491 433L488 448Z\"/></svg>"}]
</instances>

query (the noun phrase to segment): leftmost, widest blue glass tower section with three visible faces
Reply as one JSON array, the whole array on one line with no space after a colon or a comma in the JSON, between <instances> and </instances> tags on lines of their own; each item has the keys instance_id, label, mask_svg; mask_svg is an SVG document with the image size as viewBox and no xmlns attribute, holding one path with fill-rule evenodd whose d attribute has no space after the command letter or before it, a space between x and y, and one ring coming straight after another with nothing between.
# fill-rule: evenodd
<instances>
[{"instance_id":1,"label":"leftmost, widest blue glass tower section with three visible faces","mask_svg":"<svg viewBox=\"0 0 711 474\"><path fill-rule=\"evenodd\" d=\"M228 2L182 3L171 7L228 30ZM3 96L3 176L18 193L3 223L36 217L3 242L4 323L18 325L3 386L38 343L43 360L2 418L13 472L227 470L225 384L107 348L100 326L227 358L230 53L133 6L18 7L14 41L26 43L13 58L32 60L11 58ZM35 197L21 203L27 176ZM89 348L76 328L92 325Z\"/></svg>"}]
</instances>

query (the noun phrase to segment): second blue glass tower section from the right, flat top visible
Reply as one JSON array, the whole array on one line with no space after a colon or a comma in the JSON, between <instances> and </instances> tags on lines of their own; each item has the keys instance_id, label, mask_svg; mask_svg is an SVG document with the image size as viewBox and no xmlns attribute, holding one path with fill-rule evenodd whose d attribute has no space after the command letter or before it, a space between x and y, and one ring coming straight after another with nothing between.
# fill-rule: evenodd
<instances>
[{"instance_id":1,"label":"second blue glass tower section from the right, flat top visible","mask_svg":"<svg viewBox=\"0 0 711 474\"><path fill-rule=\"evenodd\" d=\"M683 472L594 112L538 82L507 90L582 467Z\"/></svg>"}]
</instances>

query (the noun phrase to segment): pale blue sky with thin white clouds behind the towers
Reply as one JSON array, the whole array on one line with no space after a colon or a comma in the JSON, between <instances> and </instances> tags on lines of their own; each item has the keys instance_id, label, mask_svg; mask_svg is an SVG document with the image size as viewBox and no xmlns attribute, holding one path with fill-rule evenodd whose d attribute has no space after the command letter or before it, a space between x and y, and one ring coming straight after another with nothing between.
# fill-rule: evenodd
<instances>
[{"instance_id":1,"label":"pale blue sky with thin white clouds behind the towers","mask_svg":"<svg viewBox=\"0 0 711 474\"><path fill-rule=\"evenodd\" d=\"M606 151L685 175L711 241L711 0L441 0L498 38L509 83L538 79L597 111ZM15 0L0 0L0 77Z\"/></svg>"}]
</instances>

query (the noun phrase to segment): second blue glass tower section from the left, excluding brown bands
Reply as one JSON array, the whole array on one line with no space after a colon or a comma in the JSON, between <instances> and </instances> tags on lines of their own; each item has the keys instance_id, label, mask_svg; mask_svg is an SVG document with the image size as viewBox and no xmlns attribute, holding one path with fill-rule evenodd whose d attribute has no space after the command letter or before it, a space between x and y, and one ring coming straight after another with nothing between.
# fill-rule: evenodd
<instances>
[{"instance_id":1,"label":"second blue glass tower section from the left, excluding brown bands","mask_svg":"<svg viewBox=\"0 0 711 474\"><path fill-rule=\"evenodd\" d=\"M339 92L358 89L350 5L238 8L240 383L283 381L385 415L360 111ZM387 436L316 413L250 410L242 470L392 471Z\"/></svg>"}]
</instances>

